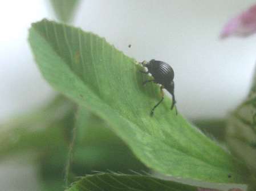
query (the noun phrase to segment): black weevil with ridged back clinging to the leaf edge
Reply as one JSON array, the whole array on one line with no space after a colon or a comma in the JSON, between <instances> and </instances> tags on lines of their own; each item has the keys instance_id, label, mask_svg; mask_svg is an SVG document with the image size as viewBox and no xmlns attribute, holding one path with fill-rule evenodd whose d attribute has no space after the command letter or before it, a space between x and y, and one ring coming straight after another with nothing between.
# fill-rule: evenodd
<instances>
[{"instance_id":1,"label":"black weevil with ridged back clinging to the leaf edge","mask_svg":"<svg viewBox=\"0 0 256 191\"><path fill-rule=\"evenodd\" d=\"M141 64L148 68L148 71L140 71L144 74L151 74L153 76L153 80L146 80L143 82L143 85L145 85L148 82L154 82L161 84L160 90L161 90L161 96L162 99L157 103L151 110L151 115L154 114L154 111L156 107L164 100L164 92L162 89L167 90L172 95L172 106L170 109L173 109L174 105L176 104L175 96L174 96L174 72L172 67L170 67L169 64L162 62L160 60L150 60L149 62L143 61ZM176 115L177 115L177 108L176 108Z\"/></svg>"}]
</instances>

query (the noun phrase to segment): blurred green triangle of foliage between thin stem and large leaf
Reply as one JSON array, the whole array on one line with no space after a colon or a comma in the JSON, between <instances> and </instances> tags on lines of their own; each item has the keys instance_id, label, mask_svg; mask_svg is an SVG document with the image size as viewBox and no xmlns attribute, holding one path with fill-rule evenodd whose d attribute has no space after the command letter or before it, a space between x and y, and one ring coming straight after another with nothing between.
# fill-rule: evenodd
<instances>
[{"instance_id":1,"label":"blurred green triangle of foliage between thin stem and large leaf","mask_svg":"<svg viewBox=\"0 0 256 191\"><path fill-rule=\"evenodd\" d=\"M122 173L131 173L130 169L139 172L147 170L127 145L108 128L105 121L87 109L79 109L76 128L77 143L72 165L76 175L83 176L92 170L106 172L110 169Z\"/></svg>"}]
</instances>

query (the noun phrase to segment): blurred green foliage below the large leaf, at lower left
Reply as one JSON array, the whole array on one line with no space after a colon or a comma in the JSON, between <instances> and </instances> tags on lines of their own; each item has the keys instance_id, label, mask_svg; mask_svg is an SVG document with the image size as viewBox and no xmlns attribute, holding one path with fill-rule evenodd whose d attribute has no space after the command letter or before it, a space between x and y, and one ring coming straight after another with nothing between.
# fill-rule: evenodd
<instances>
[{"instance_id":1,"label":"blurred green foliage below the large leaf, at lower left","mask_svg":"<svg viewBox=\"0 0 256 191\"><path fill-rule=\"evenodd\" d=\"M131 173L147 168L133 156L127 145L117 137L103 120L83 110L75 123L76 105L63 96L56 96L47 107L11 120L0 127L0 159L19 153L34 152L39 165L40 182L45 190L64 189L64 169L68 146L76 126L78 139L71 161L70 181L94 173L93 170Z\"/></svg>"}]
</instances>

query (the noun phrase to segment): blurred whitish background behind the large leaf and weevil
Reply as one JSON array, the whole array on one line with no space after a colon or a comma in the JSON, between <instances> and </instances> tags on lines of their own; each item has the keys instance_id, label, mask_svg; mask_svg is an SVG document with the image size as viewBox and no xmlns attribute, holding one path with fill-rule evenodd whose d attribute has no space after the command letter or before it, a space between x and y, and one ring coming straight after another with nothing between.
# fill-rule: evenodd
<instances>
[{"instance_id":1,"label":"blurred whitish background behind the large leaf and weevil","mask_svg":"<svg viewBox=\"0 0 256 191\"><path fill-rule=\"evenodd\" d=\"M249 90L256 59L256 36L225 41L218 36L230 17L253 3L253 0L82 1L74 25L104 36L137 60L168 62L175 71L178 110L186 117L224 117ZM0 121L36 108L54 95L40 76L27 43L31 22L44 17L55 19L48 5L43 0L1 3ZM128 44L132 47L128 48ZM6 166L0 168L1 186L6 185L8 190L27 190L26 186L36 189L27 179L34 174L33 170L25 168L20 172L27 174L22 180L28 183L18 181L16 173L9 176L14 172Z\"/></svg>"}]
</instances>

